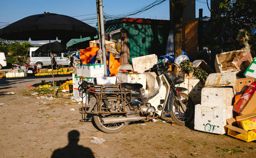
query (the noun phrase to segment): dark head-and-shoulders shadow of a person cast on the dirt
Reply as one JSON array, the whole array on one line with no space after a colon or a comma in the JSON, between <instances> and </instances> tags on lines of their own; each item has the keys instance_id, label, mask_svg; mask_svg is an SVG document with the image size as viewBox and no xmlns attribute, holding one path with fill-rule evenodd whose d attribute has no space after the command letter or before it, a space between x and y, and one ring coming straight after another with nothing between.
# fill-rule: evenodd
<instances>
[{"instance_id":1,"label":"dark head-and-shoulders shadow of a person cast on the dirt","mask_svg":"<svg viewBox=\"0 0 256 158\"><path fill-rule=\"evenodd\" d=\"M69 132L69 144L66 147L56 149L52 153L51 158L55 157L87 157L87 158L94 158L93 152L90 148L83 147L82 145L78 145L79 141L79 132L77 130L72 130Z\"/></svg>"}]
</instances>

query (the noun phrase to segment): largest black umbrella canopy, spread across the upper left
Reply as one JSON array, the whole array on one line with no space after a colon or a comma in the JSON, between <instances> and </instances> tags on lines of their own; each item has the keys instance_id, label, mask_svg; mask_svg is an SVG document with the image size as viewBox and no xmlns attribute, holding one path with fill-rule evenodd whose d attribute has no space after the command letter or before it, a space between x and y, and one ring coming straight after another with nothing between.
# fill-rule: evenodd
<instances>
[{"instance_id":1,"label":"largest black umbrella canopy, spread across the upper left","mask_svg":"<svg viewBox=\"0 0 256 158\"><path fill-rule=\"evenodd\" d=\"M44 13L25 17L0 30L7 40L70 40L96 35L89 24L67 15Z\"/></svg>"}]
</instances>

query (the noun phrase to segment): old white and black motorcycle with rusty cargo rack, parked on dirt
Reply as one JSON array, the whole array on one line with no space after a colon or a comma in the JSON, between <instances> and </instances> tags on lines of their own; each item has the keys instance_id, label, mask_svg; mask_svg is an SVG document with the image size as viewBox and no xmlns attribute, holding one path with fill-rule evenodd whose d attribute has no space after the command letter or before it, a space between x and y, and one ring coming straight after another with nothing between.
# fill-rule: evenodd
<instances>
[{"instance_id":1,"label":"old white and black motorcycle with rusty cargo rack, parked on dirt","mask_svg":"<svg viewBox=\"0 0 256 158\"><path fill-rule=\"evenodd\" d=\"M105 133L118 133L129 122L152 120L169 114L175 123L185 125L194 118L194 103L177 85L184 82L184 72L174 74L168 65L157 63L145 72L155 72L159 89L151 96L142 95L142 85L92 85L80 81L82 104L80 113L93 117L95 125ZM89 101L88 101L89 100ZM82 101L83 102L83 101Z\"/></svg>"}]
</instances>

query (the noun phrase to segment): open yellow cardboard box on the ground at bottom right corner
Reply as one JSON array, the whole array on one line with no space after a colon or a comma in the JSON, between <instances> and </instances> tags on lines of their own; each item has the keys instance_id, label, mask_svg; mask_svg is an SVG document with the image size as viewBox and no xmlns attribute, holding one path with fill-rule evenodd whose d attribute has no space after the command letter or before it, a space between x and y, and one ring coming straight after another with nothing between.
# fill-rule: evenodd
<instances>
[{"instance_id":1,"label":"open yellow cardboard box on the ground at bottom right corner","mask_svg":"<svg viewBox=\"0 0 256 158\"><path fill-rule=\"evenodd\" d=\"M246 142L251 142L256 140L256 130L244 130L242 128L236 127L233 123L236 123L234 118L227 119L228 124L226 127L228 128L227 135L232 136L237 139L241 139Z\"/></svg>"}]
</instances>

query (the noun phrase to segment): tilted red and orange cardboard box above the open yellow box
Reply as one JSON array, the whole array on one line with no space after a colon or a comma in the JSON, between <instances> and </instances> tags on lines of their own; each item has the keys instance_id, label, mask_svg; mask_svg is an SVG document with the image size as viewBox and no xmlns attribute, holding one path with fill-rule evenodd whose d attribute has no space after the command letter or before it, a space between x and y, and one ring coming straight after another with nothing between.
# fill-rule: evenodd
<instances>
[{"instance_id":1,"label":"tilted red and orange cardboard box above the open yellow box","mask_svg":"<svg viewBox=\"0 0 256 158\"><path fill-rule=\"evenodd\" d=\"M246 115L256 111L256 82L253 82L234 106L233 111Z\"/></svg>"}]
</instances>

